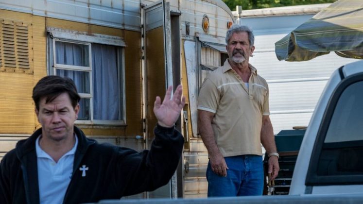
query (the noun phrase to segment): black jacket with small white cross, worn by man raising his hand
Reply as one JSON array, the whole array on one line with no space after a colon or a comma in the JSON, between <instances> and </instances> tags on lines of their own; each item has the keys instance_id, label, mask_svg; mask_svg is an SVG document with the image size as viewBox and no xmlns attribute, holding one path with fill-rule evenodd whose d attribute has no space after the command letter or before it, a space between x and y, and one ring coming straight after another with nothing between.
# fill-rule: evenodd
<instances>
[{"instance_id":1,"label":"black jacket with small white cross, worn by man raising his hand","mask_svg":"<svg viewBox=\"0 0 363 204\"><path fill-rule=\"evenodd\" d=\"M158 126L150 151L136 152L124 147L99 144L74 127L78 146L73 173L63 203L79 204L152 191L168 183L178 165L184 139L174 128ZM37 130L20 140L0 163L0 204L39 203ZM82 177L83 165L88 170Z\"/></svg>"}]
</instances>

